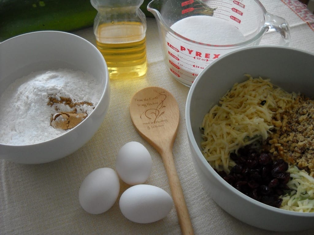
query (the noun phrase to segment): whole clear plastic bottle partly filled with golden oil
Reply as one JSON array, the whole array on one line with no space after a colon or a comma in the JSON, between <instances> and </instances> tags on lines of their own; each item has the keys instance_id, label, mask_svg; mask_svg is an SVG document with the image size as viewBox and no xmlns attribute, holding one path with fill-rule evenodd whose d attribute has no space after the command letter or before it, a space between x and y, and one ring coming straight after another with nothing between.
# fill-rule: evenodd
<instances>
[{"instance_id":1,"label":"whole clear plastic bottle partly filled with golden oil","mask_svg":"<svg viewBox=\"0 0 314 235\"><path fill-rule=\"evenodd\" d=\"M146 18L144 0L90 0L97 10L96 46L107 63L110 78L146 74Z\"/></svg>"}]
</instances>

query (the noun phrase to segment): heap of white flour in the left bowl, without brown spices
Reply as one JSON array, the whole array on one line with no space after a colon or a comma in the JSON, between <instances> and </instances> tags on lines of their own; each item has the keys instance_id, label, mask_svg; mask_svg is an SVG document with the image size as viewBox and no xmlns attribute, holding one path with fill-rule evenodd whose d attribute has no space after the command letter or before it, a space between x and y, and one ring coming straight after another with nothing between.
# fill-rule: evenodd
<instances>
[{"instance_id":1,"label":"heap of white flour in the left bowl, without brown spices","mask_svg":"<svg viewBox=\"0 0 314 235\"><path fill-rule=\"evenodd\" d=\"M89 114L96 106L101 89L88 73L68 69L33 72L14 81L0 97L0 143L11 145L35 144L57 137L66 130L50 126L56 113L73 111L64 104L47 105L48 97L69 97L75 102L87 101L79 112Z\"/></svg>"}]
</instances>

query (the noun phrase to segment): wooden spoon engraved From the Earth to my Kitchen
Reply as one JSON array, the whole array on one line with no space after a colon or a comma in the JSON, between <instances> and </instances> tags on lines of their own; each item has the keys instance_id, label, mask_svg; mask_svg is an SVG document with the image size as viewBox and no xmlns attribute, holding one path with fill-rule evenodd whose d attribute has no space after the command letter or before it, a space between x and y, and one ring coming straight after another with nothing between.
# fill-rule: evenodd
<instances>
[{"instance_id":1,"label":"wooden spoon engraved From the Earth to my Kitchen","mask_svg":"<svg viewBox=\"0 0 314 235\"><path fill-rule=\"evenodd\" d=\"M133 96L130 114L138 133L162 157L182 234L193 234L192 223L172 156L172 147L179 125L179 107L175 97L160 87L144 88Z\"/></svg>"}]
</instances>

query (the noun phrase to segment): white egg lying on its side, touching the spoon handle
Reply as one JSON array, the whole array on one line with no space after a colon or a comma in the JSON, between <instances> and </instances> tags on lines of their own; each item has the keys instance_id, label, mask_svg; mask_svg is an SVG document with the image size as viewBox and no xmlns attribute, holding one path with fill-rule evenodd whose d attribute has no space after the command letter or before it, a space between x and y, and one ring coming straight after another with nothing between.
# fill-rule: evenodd
<instances>
[{"instance_id":1,"label":"white egg lying on its side, touching the spoon handle","mask_svg":"<svg viewBox=\"0 0 314 235\"><path fill-rule=\"evenodd\" d=\"M119 206L122 214L136 223L151 223L165 218L172 209L171 196L153 185L135 185L124 191Z\"/></svg>"}]
</instances>

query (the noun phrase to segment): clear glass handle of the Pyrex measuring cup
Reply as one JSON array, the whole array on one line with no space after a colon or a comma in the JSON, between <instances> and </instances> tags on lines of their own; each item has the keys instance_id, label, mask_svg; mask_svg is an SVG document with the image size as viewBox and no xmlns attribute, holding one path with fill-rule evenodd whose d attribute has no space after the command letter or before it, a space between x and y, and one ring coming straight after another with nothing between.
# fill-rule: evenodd
<instances>
[{"instance_id":1,"label":"clear glass handle of the Pyrex measuring cup","mask_svg":"<svg viewBox=\"0 0 314 235\"><path fill-rule=\"evenodd\" d=\"M270 13L266 13L265 17L265 27L267 28L267 31L279 33L281 35L279 45L289 46L291 36L288 22L284 18Z\"/></svg>"}]
</instances>

